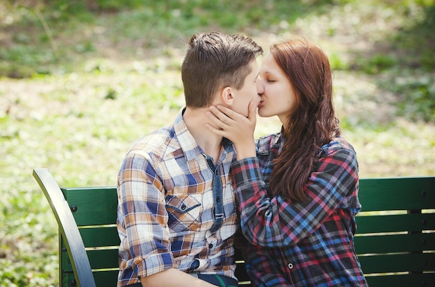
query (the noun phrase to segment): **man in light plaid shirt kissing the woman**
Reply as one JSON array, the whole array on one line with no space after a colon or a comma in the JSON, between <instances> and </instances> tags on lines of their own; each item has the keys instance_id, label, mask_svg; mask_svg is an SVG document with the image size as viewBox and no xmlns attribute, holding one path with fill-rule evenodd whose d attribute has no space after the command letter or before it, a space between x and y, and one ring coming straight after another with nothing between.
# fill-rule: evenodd
<instances>
[{"instance_id":1,"label":"man in light plaid shirt kissing the woman","mask_svg":"<svg viewBox=\"0 0 435 287\"><path fill-rule=\"evenodd\" d=\"M172 124L136 141L120 168L117 286L237 285L229 177L236 154L205 127L212 124L206 113L224 105L247 116L262 93L262 53L242 35L201 33L188 41L181 67L186 107Z\"/></svg>"}]
</instances>

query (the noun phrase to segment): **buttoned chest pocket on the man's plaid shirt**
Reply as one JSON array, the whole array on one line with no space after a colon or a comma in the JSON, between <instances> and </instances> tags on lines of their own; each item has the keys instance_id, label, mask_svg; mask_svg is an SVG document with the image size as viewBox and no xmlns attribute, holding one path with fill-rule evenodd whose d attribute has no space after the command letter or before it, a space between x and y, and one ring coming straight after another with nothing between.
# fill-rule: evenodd
<instances>
[{"instance_id":1,"label":"buttoned chest pocket on the man's plaid shirt","mask_svg":"<svg viewBox=\"0 0 435 287\"><path fill-rule=\"evenodd\" d=\"M200 196L200 195L199 195ZM201 202L194 195L166 197L168 226L173 232L197 231L200 228Z\"/></svg>"}]
</instances>

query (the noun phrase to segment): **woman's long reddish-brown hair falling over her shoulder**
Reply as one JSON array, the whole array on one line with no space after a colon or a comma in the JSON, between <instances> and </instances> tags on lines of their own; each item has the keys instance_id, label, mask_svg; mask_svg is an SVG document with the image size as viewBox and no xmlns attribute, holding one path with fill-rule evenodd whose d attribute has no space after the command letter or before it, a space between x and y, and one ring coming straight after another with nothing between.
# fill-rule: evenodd
<instances>
[{"instance_id":1,"label":"woman's long reddish-brown hair falling over her shoulder","mask_svg":"<svg viewBox=\"0 0 435 287\"><path fill-rule=\"evenodd\" d=\"M293 85L295 108L284 123L284 147L274 160L272 195L301 202L304 185L318 161L319 148L340 134L332 101L332 71L327 55L309 40L274 44L270 53Z\"/></svg>"}]
</instances>

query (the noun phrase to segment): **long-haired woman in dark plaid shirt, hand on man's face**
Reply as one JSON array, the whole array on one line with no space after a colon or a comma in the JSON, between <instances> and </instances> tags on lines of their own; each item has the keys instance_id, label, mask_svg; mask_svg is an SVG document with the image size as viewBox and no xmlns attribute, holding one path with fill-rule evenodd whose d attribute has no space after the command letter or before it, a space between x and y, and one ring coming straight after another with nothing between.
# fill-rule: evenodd
<instances>
[{"instance_id":1,"label":"long-haired woman in dark plaid shirt, hand on man's face","mask_svg":"<svg viewBox=\"0 0 435 287\"><path fill-rule=\"evenodd\" d=\"M354 250L358 162L340 136L327 55L308 40L274 44L260 69L260 116L281 132L252 141L256 118L211 108L231 139L247 270L255 286L367 286Z\"/></svg>"}]
</instances>

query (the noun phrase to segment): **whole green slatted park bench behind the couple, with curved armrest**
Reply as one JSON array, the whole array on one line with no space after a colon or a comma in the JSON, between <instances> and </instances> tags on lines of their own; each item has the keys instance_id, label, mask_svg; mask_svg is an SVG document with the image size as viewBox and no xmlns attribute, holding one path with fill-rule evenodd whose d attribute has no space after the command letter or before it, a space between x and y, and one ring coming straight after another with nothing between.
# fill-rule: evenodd
<instances>
[{"instance_id":1,"label":"whole green slatted park bench behind the couple, with curved armrest","mask_svg":"<svg viewBox=\"0 0 435 287\"><path fill-rule=\"evenodd\" d=\"M33 171L59 226L59 286L116 286L115 186L60 188ZM435 177L361 179L355 248L370 287L435 286ZM236 254L239 286L249 286Z\"/></svg>"}]
</instances>

